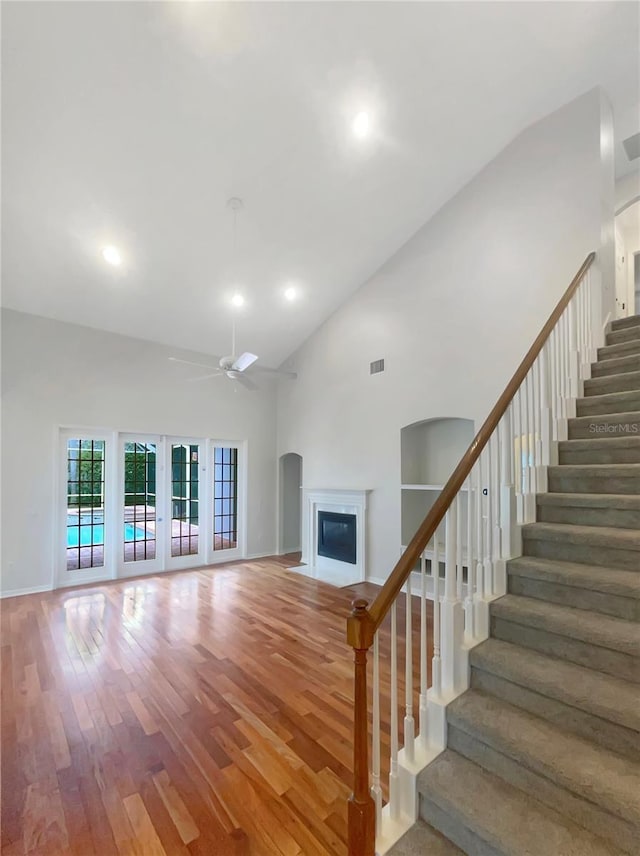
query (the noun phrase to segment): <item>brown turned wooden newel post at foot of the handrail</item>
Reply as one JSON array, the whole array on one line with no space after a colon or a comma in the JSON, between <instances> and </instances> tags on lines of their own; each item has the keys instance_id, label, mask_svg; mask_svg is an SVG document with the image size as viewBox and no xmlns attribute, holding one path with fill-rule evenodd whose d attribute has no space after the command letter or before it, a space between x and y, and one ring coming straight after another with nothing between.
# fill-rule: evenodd
<instances>
[{"instance_id":1,"label":"brown turned wooden newel post at foot of the handrail","mask_svg":"<svg viewBox=\"0 0 640 856\"><path fill-rule=\"evenodd\" d=\"M373 644L373 622L366 600L354 600L347 620L347 641L353 648L353 793L349 798L349 856L374 856L376 840L375 803L369 788L369 702L367 698L367 652Z\"/></svg>"}]
</instances>

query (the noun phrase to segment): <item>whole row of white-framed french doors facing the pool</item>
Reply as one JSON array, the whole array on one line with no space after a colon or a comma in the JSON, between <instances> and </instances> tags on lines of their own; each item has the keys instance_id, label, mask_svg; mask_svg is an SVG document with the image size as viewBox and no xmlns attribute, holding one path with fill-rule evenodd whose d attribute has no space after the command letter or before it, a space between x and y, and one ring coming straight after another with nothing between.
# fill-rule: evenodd
<instances>
[{"instance_id":1,"label":"whole row of white-framed french doors facing the pool","mask_svg":"<svg viewBox=\"0 0 640 856\"><path fill-rule=\"evenodd\" d=\"M241 558L244 457L232 441L61 431L58 585Z\"/></svg>"}]
</instances>

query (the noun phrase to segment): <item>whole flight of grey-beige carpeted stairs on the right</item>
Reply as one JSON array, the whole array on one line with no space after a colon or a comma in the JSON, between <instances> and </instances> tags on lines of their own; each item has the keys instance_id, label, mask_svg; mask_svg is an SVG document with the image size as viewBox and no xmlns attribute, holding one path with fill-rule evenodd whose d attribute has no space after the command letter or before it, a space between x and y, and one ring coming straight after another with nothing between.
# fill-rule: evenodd
<instances>
[{"instance_id":1,"label":"whole flight of grey-beige carpeted stairs on the right","mask_svg":"<svg viewBox=\"0 0 640 856\"><path fill-rule=\"evenodd\" d=\"M640 316L612 326L395 856L640 854Z\"/></svg>"}]
</instances>

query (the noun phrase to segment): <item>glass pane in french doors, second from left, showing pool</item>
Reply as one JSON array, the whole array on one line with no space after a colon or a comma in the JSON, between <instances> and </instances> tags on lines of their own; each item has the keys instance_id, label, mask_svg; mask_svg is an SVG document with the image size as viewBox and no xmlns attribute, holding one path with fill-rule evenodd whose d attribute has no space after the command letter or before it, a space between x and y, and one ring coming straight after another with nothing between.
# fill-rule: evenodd
<instances>
[{"instance_id":1,"label":"glass pane in french doors, second from left, showing pool","mask_svg":"<svg viewBox=\"0 0 640 856\"><path fill-rule=\"evenodd\" d=\"M124 560L156 557L156 444L124 444Z\"/></svg>"}]
</instances>

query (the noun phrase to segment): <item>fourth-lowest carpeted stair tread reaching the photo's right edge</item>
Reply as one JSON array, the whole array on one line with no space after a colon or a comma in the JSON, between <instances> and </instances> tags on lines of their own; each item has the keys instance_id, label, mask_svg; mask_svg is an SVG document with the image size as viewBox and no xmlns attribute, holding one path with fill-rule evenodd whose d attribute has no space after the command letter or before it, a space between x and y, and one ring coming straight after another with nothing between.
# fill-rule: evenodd
<instances>
[{"instance_id":1,"label":"fourth-lowest carpeted stair tread reaching the photo's right edge","mask_svg":"<svg viewBox=\"0 0 640 856\"><path fill-rule=\"evenodd\" d=\"M507 573L640 600L640 574L635 571L520 556L509 561Z\"/></svg>"}]
</instances>

